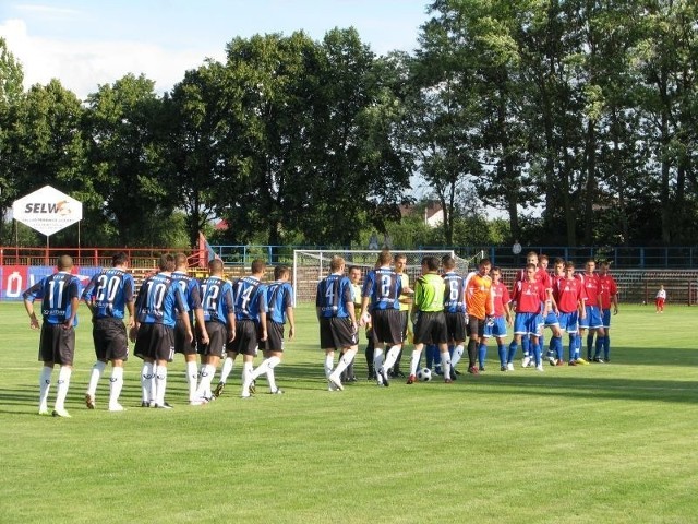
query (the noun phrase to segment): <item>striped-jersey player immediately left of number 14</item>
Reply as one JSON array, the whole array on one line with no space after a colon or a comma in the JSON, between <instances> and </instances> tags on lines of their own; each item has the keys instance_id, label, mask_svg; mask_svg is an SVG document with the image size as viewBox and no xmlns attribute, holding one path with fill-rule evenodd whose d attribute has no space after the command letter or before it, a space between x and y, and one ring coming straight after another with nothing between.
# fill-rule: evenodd
<instances>
[{"instance_id":1,"label":"striped-jersey player immediately left of number 14","mask_svg":"<svg viewBox=\"0 0 698 524\"><path fill-rule=\"evenodd\" d=\"M201 355L201 380L192 405L205 404L213 397L210 381L216 368L226 352L226 343L236 336L236 307L232 296L232 284L222 276L222 261L215 259L208 262L208 276L201 284L202 308L208 342L198 341Z\"/></svg>"}]
</instances>

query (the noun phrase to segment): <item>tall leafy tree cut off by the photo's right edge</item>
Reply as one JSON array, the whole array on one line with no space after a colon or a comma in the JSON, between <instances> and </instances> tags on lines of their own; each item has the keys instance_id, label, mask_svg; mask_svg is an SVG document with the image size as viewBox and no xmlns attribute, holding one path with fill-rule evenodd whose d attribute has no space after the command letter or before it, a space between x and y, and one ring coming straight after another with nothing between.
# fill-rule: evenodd
<instances>
[{"instance_id":1,"label":"tall leafy tree cut off by the photo's right edge","mask_svg":"<svg viewBox=\"0 0 698 524\"><path fill-rule=\"evenodd\" d=\"M639 76L643 142L651 152L650 184L660 210L661 242L690 241L696 236L696 99L698 87L698 8L686 0L640 2L641 37L631 57Z\"/></svg>"}]
</instances>

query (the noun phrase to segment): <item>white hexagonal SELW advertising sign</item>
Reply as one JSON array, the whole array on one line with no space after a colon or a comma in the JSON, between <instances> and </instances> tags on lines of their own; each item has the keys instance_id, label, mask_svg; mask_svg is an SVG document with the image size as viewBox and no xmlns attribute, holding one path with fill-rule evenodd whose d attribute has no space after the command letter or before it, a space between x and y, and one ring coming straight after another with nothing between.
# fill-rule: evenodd
<instances>
[{"instance_id":1,"label":"white hexagonal SELW advertising sign","mask_svg":"<svg viewBox=\"0 0 698 524\"><path fill-rule=\"evenodd\" d=\"M83 204L50 186L44 186L12 204L12 216L46 236L83 218Z\"/></svg>"}]
</instances>

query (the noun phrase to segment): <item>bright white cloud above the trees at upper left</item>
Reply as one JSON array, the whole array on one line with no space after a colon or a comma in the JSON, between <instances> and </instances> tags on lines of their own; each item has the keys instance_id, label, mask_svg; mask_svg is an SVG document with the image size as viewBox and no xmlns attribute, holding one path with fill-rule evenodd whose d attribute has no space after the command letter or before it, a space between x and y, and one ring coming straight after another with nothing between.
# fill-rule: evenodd
<instances>
[{"instance_id":1,"label":"bright white cloud above the trees at upper left","mask_svg":"<svg viewBox=\"0 0 698 524\"><path fill-rule=\"evenodd\" d=\"M63 87L84 99L98 85L110 84L128 73L145 74L155 88L169 91L184 78L188 69L201 66L206 55L193 50L169 50L131 40L89 41L34 37L23 20L0 23L0 36L22 63L24 85L47 84L58 79ZM225 50L210 58L225 59Z\"/></svg>"}]
</instances>

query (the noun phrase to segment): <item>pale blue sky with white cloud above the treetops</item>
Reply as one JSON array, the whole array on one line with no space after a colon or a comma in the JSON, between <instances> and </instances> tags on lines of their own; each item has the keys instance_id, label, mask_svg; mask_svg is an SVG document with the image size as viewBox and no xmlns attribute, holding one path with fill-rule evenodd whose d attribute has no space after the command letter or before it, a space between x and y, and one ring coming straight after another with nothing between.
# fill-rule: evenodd
<instances>
[{"instance_id":1,"label":"pale blue sky with white cloud above the treetops","mask_svg":"<svg viewBox=\"0 0 698 524\"><path fill-rule=\"evenodd\" d=\"M0 36L24 68L25 85L51 78L80 98L124 74L144 73L160 92L205 58L222 60L236 36L321 39L353 26L378 55L417 47L429 0L0 0Z\"/></svg>"}]
</instances>

